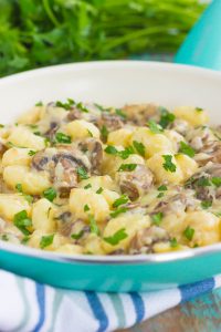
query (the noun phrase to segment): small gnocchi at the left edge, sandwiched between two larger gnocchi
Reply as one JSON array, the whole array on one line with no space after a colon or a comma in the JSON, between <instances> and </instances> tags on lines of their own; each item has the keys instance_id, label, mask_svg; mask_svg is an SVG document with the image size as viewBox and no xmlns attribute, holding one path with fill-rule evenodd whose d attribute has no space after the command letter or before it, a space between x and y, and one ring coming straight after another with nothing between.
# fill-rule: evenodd
<instances>
[{"instance_id":1,"label":"small gnocchi at the left edge, sandwiched between two larger gnocchi","mask_svg":"<svg viewBox=\"0 0 221 332\"><path fill-rule=\"evenodd\" d=\"M29 166L31 163L31 149L30 148L9 148L2 157L2 166L23 165Z\"/></svg>"}]
</instances>

